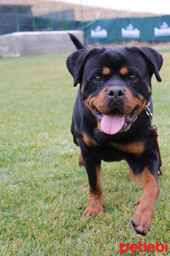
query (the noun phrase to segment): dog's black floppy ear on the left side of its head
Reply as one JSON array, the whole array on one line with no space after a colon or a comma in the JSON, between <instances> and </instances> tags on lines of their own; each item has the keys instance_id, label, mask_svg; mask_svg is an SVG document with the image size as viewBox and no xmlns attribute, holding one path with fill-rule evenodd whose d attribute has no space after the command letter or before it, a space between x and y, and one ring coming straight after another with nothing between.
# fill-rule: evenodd
<instances>
[{"instance_id":1,"label":"dog's black floppy ear on the left side of its head","mask_svg":"<svg viewBox=\"0 0 170 256\"><path fill-rule=\"evenodd\" d=\"M76 52L73 52L67 58L67 68L74 78L74 86L76 86L81 79L82 70L88 53L88 49L81 49Z\"/></svg>"}]
</instances>

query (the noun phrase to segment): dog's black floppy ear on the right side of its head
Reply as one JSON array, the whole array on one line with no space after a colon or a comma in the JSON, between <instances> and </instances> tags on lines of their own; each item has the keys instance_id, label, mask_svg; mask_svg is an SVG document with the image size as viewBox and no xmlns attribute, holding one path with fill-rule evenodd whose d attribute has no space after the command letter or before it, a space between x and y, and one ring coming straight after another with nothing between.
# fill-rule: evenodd
<instances>
[{"instance_id":1,"label":"dog's black floppy ear on the right side of its head","mask_svg":"<svg viewBox=\"0 0 170 256\"><path fill-rule=\"evenodd\" d=\"M139 47L139 50L150 64L150 70L152 72L151 76L154 73L157 81L161 82L161 77L159 75L159 70L163 64L163 58L161 54L150 47Z\"/></svg>"}]
</instances>

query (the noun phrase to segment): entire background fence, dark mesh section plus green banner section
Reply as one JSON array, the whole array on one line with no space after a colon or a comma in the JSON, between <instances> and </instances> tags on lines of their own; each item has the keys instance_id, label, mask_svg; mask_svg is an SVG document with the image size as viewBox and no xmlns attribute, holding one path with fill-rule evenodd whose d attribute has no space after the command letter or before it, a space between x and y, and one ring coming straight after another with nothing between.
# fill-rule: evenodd
<instances>
[{"instance_id":1,"label":"entire background fence, dark mesh section plus green banner section","mask_svg":"<svg viewBox=\"0 0 170 256\"><path fill-rule=\"evenodd\" d=\"M75 21L74 10L33 17L30 13L0 13L0 35L22 31L82 29L85 44L111 44L124 41L170 41L170 15L149 18L116 18Z\"/></svg>"}]
</instances>

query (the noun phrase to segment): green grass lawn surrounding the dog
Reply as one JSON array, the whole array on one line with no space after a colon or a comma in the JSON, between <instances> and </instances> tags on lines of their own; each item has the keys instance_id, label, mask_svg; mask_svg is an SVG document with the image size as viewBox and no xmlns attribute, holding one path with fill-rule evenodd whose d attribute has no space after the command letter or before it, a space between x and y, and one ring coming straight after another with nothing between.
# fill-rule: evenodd
<instances>
[{"instance_id":1,"label":"green grass lawn surrounding the dog","mask_svg":"<svg viewBox=\"0 0 170 256\"><path fill-rule=\"evenodd\" d=\"M142 189L124 161L102 162L106 212L81 218L89 185L70 132L78 88L67 55L0 59L0 255L108 256L119 255L119 242L170 244L170 50L161 53L153 102L164 175L147 237L130 223Z\"/></svg>"}]
</instances>

